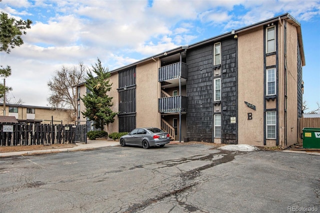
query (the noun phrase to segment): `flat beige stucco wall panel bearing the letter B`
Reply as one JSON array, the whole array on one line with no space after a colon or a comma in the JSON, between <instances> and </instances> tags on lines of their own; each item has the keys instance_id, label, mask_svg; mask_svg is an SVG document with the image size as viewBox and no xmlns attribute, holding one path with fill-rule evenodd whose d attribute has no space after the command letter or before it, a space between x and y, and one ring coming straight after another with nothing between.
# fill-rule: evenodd
<instances>
[{"instance_id":1,"label":"flat beige stucco wall panel bearing the letter B","mask_svg":"<svg viewBox=\"0 0 320 213\"><path fill-rule=\"evenodd\" d=\"M238 34L238 143L263 146L263 27ZM255 110L244 101L255 105ZM247 113L252 113L248 120Z\"/></svg>"}]
</instances>

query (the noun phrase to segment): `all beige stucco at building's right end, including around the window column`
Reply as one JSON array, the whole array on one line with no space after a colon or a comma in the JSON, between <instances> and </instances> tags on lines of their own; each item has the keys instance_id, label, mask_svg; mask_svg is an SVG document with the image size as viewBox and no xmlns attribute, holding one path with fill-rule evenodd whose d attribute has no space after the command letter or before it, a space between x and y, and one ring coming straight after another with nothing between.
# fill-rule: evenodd
<instances>
[{"instance_id":1,"label":"all beige stucco at building's right end, including around the window column","mask_svg":"<svg viewBox=\"0 0 320 213\"><path fill-rule=\"evenodd\" d=\"M278 60L278 106L276 99L265 102L266 109L278 107L278 140L285 146L284 139L284 25L278 24L278 58L266 56L265 65L276 65ZM254 42L252 42L254 41ZM287 23L287 144L297 142L297 33L295 26ZM263 145L263 27L238 34L238 143ZM250 92L252 91L252 92ZM248 108L243 102L255 105L256 110ZM247 120L247 112L252 120ZM274 146L275 140L267 139L267 146Z\"/></svg>"}]
</instances>

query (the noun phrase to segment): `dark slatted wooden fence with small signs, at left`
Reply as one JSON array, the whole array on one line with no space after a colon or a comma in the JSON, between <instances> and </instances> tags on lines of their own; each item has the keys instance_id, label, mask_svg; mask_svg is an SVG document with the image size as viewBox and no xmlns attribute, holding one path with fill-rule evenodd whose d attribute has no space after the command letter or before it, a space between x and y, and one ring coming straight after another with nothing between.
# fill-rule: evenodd
<instances>
[{"instance_id":1,"label":"dark slatted wooden fence with small signs, at left","mask_svg":"<svg viewBox=\"0 0 320 213\"><path fill-rule=\"evenodd\" d=\"M0 123L0 146L86 143L86 125Z\"/></svg>"}]
</instances>

